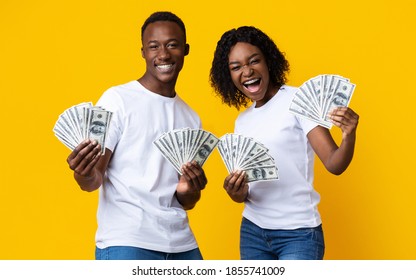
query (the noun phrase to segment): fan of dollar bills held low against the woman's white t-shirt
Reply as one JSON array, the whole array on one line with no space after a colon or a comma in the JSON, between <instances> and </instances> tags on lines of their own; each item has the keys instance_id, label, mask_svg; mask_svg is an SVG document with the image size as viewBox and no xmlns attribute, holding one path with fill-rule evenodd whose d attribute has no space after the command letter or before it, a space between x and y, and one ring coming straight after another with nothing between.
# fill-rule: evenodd
<instances>
[{"instance_id":1,"label":"fan of dollar bills held low against the woman's white t-shirt","mask_svg":"<svg viewBox=\"0 0 416 280\"><path fill-rule=\"evenodd\" d=\"M274 159L268 149L253 138L228 133L220 138L218 151L228 172L244 170L248 182L278 179Z\"/></svg>"}]
</instances>

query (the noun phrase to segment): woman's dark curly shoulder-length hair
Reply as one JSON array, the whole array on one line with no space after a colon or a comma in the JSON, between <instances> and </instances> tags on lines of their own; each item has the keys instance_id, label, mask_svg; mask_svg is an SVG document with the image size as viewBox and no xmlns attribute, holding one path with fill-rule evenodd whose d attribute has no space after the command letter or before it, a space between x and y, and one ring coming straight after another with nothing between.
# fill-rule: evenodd
<instances>
[{"instance_id":1,"label":"woman's dark curly shoulder-length hair","mask_svg":"<svg viewBox=\"0 0 416 280\"><path fill-rule=\"evenodd\" d=\"M246 107L250 99L237 89L231 79L228 55L231 48L238 42L256 46L263 53L269 68L270 83L282 86L286 83L289 62L280 52L273 40L260 29L253 26L241 26L225 32L217 43L210 71L210 84L214 91L228 106L237 110Z\"/></svg>"}]
</instances>

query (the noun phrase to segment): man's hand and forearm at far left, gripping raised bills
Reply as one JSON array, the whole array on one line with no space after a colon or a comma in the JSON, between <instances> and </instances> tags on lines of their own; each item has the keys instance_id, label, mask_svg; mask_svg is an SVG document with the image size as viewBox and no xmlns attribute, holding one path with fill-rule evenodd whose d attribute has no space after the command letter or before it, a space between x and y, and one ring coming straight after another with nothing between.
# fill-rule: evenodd
<instances>
[{"instance_id":1,"label":"man's hand and forearm at far left, gripping raised bills","mask_svg":"<svg viewBox=\"0 0 416 280\"><path fill-rule=\"evenodd\" d=\"M69 168L74 171L75 181L84 191L95 191L103 183L112 152L107 149L102 156L100 150L97 141L86 140L68 156Z\"/></svg>"}]
</instances>

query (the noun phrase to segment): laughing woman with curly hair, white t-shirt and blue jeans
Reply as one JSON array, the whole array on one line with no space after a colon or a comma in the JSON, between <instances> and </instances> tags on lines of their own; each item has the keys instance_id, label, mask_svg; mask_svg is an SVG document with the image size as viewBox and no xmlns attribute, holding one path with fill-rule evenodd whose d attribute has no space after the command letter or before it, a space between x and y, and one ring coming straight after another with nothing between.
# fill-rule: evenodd
<instances>
[{"instance_id":1,"label":"laughing woman with curly hair, white t-shirt and blue jeans","mask_svg":"<svg viewBox=\"0 0 416 280\"><path fill-rule=\"evenodd\" d=\"M329 118L341 128L338 146L329 130L289 112L297 88L286 85L289 63L264 32L242 26L217 43L210 82L223 102L247 107L235 121L235 133L269 148L279 180L247 183L244 171L224 180L232 200L244 202L241 259L323 259L324 235L313 187L314 153L336 175L350 164L358 115L348 107Z\"/></svg>"}]
</instances>

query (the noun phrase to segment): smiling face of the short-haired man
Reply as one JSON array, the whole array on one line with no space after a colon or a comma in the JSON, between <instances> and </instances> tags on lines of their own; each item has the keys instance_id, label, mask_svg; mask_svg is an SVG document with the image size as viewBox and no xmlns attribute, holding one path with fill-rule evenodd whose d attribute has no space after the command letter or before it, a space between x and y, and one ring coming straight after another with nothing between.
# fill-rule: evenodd
<instances>
[{"instance_id":1,"label":"smiling face of the short-haired man","mask_svg":"<svg viewBox=\"0 0 416 280\"><path fill-rule=\"evenodd\" d=\"M175 84L189 47L180 27L170 21L151 23L143 33L142 43L146 78L156 84Z\"/></svg>"}]
</instances>

